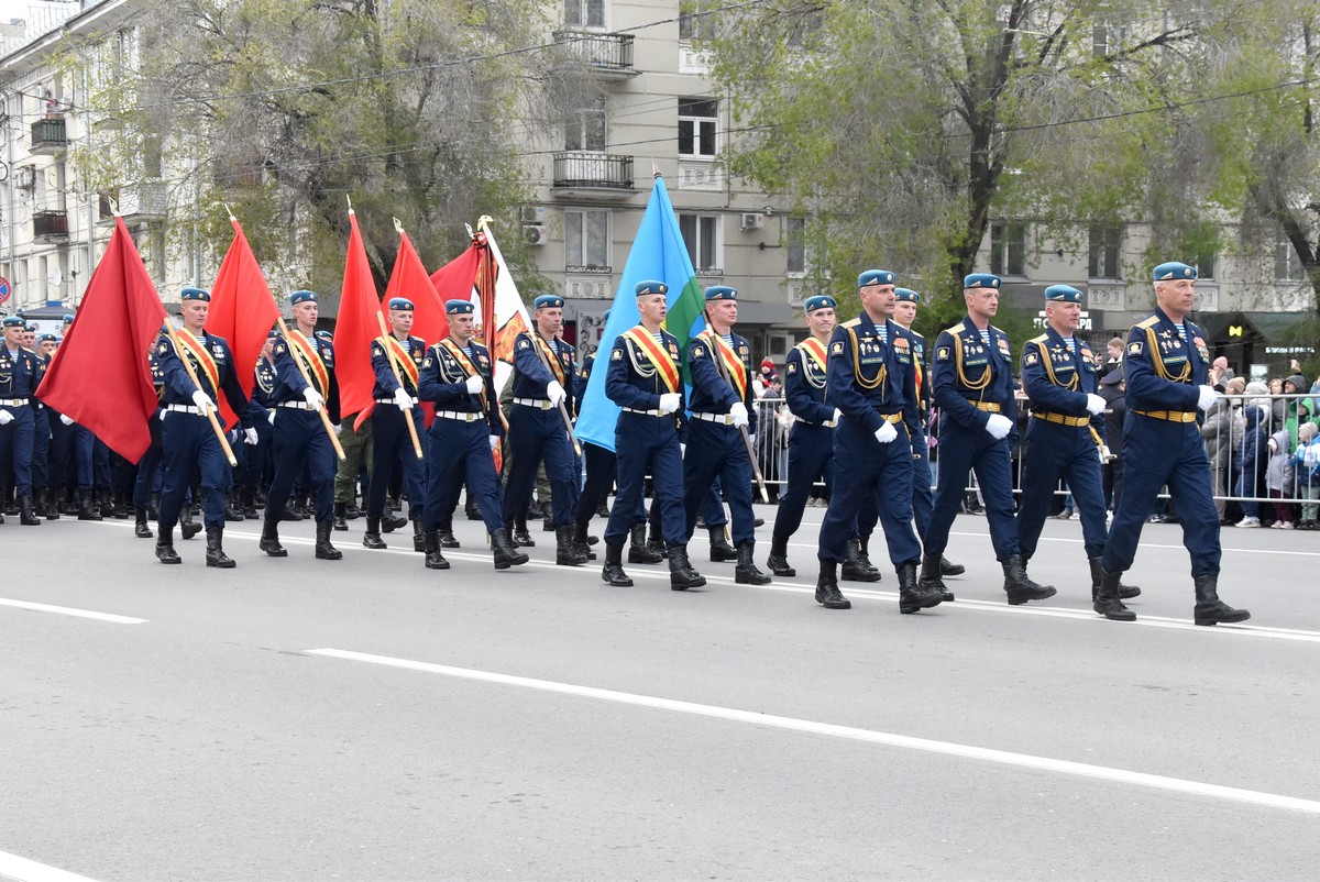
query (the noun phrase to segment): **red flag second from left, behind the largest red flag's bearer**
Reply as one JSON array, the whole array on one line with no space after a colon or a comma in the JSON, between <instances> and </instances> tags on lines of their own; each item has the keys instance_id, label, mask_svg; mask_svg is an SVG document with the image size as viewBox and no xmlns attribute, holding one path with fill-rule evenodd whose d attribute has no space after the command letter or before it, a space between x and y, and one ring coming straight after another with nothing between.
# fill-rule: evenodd
<instances>
[{"instance_id":1,"label":"red flag second from left, behind the largest red flag's bearer","mask_svg":"<svg viewBox=\"0 0 1320 882\"><path fill-rule=\"evenodd\" d=\"M243 393L252 395L256 383L256 360L261 356L261 346L271 327L280 317L271 287L265 284L256 255L243 235L243 227L234 218L234 242L220 261L211 288L211 312L206 317L206 330L223 337L234 353L234 368L239 375ZM223 395L218 401L224 425L238 421Z\"/></svg>"}]
</instances>

